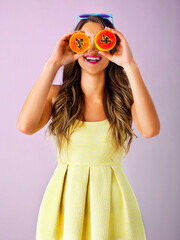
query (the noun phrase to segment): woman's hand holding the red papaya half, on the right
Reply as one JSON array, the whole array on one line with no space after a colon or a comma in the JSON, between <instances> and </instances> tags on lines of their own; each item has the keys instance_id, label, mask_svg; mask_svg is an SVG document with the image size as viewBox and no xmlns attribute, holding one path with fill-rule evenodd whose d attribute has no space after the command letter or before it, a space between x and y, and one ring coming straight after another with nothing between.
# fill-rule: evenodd
<instances>
[{"instance_id":1,"label":"woman's hand holding the red papaya half, on the right","mask_svg":"<svg viewBox=\"0 0 180 240\"><path fill-rule=\"evenodd\" d=\"M109 51L98 51L99 54L108 58L111 62L116 63L119 66L124 67L125 65L135 62L134 57L132 55L131 49L128 45L127 40L123 36L121 32L109 27L105 27L105 30L109 30L112 33L116 34L119 38L119 43L116 43L116 52L111 54Z\"/></svg>"}]
</instances>

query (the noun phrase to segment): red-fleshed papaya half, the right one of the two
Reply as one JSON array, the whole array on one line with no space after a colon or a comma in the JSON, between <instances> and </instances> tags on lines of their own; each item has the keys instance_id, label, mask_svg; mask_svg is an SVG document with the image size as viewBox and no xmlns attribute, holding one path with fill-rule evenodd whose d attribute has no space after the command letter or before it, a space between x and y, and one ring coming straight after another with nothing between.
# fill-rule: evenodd
<instances>
[{"instance_id":1,"label":"red-fleshed papaya half, the right one of the two","mask_svg":"<svg viewBox=\"0 0 180 240\"><path fill-rule=\"evenodd\" d=\"M109 30L101 30L96 34L94 41L100 51L109 51L116 45L116 36Z\"/></svg>"}]
</instances>

